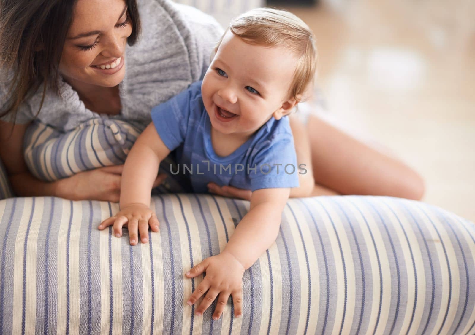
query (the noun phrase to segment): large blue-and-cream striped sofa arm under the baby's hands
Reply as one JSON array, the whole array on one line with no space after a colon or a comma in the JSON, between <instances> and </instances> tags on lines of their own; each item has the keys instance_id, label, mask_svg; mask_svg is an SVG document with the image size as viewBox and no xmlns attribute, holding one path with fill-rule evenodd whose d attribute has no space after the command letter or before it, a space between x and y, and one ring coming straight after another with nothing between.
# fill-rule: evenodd
<instances>
[{"instance_id":1,"label":"large blue-and-cream striped sofa arm under the baby's hands","mask_svg":"<svg viewBox=\"0 0 475 335\"><path fill-rule=\"evenodd\" d=\"M248 202L161 195L161 233L130 246L106 202L0 201L0 334L474 334L475 226L390 197L292 199L245 272L244 315L186 304L183 274L222 250ZM127 235L124 231L124 235Z\"/></svg>"}]
</instances>

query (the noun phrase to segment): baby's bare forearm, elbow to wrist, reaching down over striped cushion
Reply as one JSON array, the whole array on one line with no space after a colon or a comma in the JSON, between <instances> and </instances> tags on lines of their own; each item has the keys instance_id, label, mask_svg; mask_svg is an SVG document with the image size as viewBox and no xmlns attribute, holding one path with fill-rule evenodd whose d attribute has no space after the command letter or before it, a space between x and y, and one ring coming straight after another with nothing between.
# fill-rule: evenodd
<instances>
[{"instance_id":1,"label":"baby's bare forearm, elbow to wrist, reaching down over striped cushion","mask_svg":"<svg viewBox=\"0 0 475 335\"><path fill-rule=\"evenodd\" d=\"M253 207L239 222L223 252L230 252L247 270L276 241L282 209L266 202Z\"/></svg>"}]
</instances>

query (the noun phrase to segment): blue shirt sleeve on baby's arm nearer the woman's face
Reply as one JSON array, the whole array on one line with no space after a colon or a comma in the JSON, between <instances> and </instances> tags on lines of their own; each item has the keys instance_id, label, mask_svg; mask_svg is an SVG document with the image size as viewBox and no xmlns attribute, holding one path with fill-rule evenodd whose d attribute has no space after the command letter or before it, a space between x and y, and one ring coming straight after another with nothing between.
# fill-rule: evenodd
<instances>
[{"instance_id":1,"label":"blue shirt sleeve on baby's arm nearer the woman's face","mask_svg":"<svg viewBox=\"0 0 475 335\"><path fill-rule=\"evenodd\" d=\"M152 122L168 149L176 149L185 140L188 121L193 112L199 112L201 82L175 95L169 101L152 108Z\"/></svg>"}]
</instances>

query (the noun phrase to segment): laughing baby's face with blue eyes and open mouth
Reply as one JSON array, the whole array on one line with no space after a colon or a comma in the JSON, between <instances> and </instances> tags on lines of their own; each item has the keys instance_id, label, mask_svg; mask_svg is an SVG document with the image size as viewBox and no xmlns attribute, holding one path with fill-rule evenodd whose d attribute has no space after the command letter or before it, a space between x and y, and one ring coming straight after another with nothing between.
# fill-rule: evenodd
<instances>
[{"instance_id":1,"label":"laughing baby's face with blue eyes and open mouth","mask_svg":"<svg viewBox=\"0 0 475 335\"><path fill-rule=\"evenodd\" d=\"M296 62L284 48L251 45L228 31L201 86L212 127L246 137L271 117L280 119L293 102Z\"/></svg>"}]
</instances>

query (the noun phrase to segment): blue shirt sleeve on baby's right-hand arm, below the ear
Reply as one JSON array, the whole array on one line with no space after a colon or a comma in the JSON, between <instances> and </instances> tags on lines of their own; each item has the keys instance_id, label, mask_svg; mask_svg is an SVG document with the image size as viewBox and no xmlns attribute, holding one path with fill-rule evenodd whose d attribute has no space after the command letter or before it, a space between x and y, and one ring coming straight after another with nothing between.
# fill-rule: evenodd
<instances>
[{"instance_id":1,"label":"blue shirt sleeve on baby's right-hand arm, below the ear","mask_svg":"<svg viewBox=\"0 0 475 335\"><path fill-rule=\"evenodd\" d=\"M298 166L291 133L278 133L256 148L250 171L251 191L261 188L298 187Z\"/></svg>"}]
</instances>

